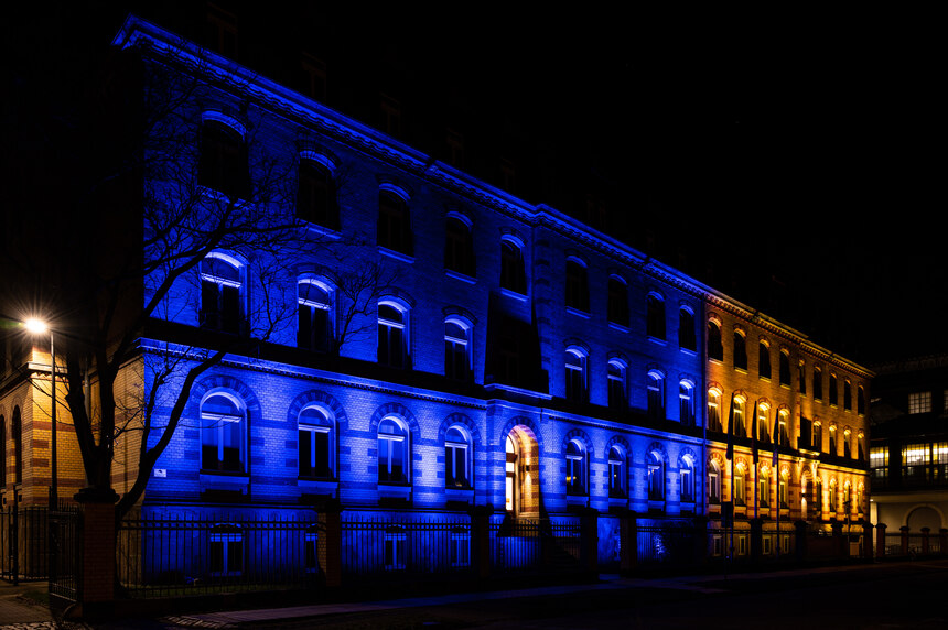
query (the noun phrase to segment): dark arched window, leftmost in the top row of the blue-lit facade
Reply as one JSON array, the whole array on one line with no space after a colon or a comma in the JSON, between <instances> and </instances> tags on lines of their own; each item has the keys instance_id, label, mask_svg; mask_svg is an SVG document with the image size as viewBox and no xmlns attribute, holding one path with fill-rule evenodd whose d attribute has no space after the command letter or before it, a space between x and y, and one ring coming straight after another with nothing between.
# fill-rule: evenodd
<instances>
[{"instance_id":1,"label":"dark arched window, leftmost in the top row of the blue-lit facade","mask_svg":"<svg viewBox=\"0 0 948 630\"><path fill-rule=\"evenodd\" d=\"M197 183L230 197L249 196L250 174L243 126L217 112L205 112L201 126Z\"/></svg>"}]
</instances>

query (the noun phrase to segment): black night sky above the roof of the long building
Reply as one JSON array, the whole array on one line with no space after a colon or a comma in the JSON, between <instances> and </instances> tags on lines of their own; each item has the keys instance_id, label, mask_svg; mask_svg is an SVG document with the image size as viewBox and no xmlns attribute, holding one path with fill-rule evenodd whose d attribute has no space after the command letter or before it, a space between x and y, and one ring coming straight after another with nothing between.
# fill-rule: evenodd
<instances>
[{"instance_id":1,"label":"black night sky above the roof of the long building","mask_svg":"<svg viewBox=\"0 0 948 630\"><path fill-rule=\"evenodd\" d=\"M121 4L89 3L89 37ZM863 365L948 350L933 17L477 7L341 10L332 31L584 152L627 189L633 246L653 233L669 264L829 349Z\"/></svg>"}]
</instances>

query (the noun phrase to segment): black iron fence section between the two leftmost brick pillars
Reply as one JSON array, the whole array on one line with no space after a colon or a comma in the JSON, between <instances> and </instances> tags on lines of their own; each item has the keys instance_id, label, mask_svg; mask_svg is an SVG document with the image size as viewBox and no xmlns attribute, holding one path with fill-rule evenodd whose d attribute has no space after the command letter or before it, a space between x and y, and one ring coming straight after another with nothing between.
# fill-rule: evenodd
<instances>
[{"instance_id":1,"label":"black iron fence section between the two leftmost brick pillars","mask_svg":"<svg viewBox=\"0 0 948 630\"><path fill-rule=\"evenodd\" d=\"M139 515L119 526L116 568L130 597L311 587L321 576L320 530L314 517Z\"/></svg>"}]
</instances>

